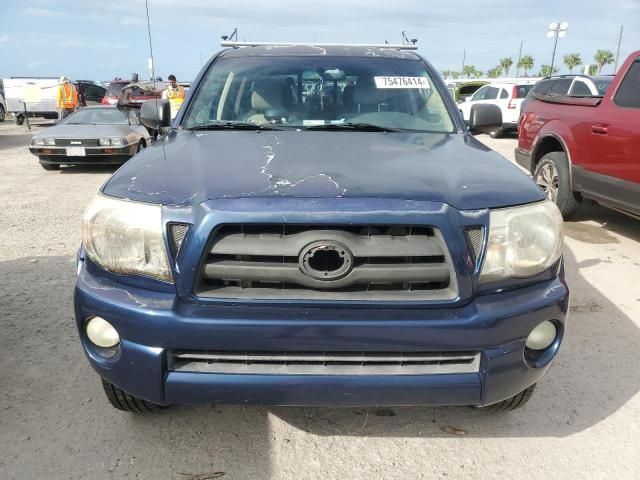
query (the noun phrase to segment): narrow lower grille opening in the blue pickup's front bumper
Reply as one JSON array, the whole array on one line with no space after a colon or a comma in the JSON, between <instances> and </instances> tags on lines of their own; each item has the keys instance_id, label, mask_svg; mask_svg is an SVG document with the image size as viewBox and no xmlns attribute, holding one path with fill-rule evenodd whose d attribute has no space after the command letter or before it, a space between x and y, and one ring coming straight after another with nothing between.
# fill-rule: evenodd
<instances>
[{"instance_id":1,"label":"narrow lower grille opening in the blue pickup's front bumper","mask_svg":"<svg viewBox=\"0 0 640 480\"><path fill-rule=\"evenodd\" d=\"M258 375L477 373L476 352L169 352L169 370Z\"/></svg>"}]
</instances>

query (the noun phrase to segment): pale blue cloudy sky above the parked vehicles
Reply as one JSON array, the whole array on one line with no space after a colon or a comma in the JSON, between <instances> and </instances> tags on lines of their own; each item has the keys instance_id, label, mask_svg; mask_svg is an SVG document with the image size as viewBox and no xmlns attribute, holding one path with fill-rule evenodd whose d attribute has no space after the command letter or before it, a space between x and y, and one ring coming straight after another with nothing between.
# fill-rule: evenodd
<instances>
[{"instance_id":1,"label":"pale blue cloudy sky above the parked vehicles","mask_svg":"<svg viewBox=\"0 0 640 480\"><path fill-rule=\"evenodd\" d=\"M640 0L148 0L156 75L195 78L220 50L220 36L238 27L240 40L399 43L417 38L419 52L440 70L466 63L487 71L502 57L550 64L551 22L569 23L558 41L563 55L593 63L597 49L620 63L640 50ZM0 78L68 76L73 79L149 77L144 0L0 0ZM561 73L566 68L561 66ZM515 68L510 72L515 73ZM613 73L613 65L603 73Z\"/></svg>"}]
</instances>

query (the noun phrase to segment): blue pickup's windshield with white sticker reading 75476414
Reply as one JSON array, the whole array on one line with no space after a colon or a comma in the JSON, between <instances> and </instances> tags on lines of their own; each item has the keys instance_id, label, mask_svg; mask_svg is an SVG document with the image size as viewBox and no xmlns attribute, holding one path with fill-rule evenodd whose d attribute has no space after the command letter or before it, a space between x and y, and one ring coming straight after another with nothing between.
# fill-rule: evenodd
<instances>
[{"instance_id":1,"label":"blue pickup's windshield with white sticker reading 75476414","mask_svg":"<svg viewBox=\"0 0 640 480\"><path fill-rule=\"evenodd\" d=\"M454 131L424 62L380 57L220 58L183 125L201 129L222 122Z\"/></svg>"}]
</instances>

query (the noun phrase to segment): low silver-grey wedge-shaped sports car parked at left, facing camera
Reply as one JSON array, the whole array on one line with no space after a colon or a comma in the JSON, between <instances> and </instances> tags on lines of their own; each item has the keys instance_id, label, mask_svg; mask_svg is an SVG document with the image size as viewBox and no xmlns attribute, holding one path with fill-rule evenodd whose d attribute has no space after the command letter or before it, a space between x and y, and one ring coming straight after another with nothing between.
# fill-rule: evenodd
<instances>
[{"instance_id":1,"label":"low silver-grey wedge-shaped sports car parked at left, facing camera","mask_svg":"<svg viewBox=\"0 0 640 480\"><path fill-rule=\"evenodd\" d=\"M31 139L45 170L60 165L123 163L151 144L136 110L95 106L76 110Z\"/></svg>"}]
</instances>

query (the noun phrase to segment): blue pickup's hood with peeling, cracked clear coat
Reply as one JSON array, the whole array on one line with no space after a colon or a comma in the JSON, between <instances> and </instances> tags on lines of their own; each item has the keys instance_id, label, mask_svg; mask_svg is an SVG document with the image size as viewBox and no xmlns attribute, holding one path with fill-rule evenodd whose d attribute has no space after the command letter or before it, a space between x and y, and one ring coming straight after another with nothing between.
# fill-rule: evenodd
<instances>
[{"instance_id":1,"label":"blue pickup's hood with peeling, cracked clear coat","mask_svg":"<svg viewBox=\"0 0 640 480\"><path fill-rule=\"evenodd\" d=\"M460 210L544 198L468 134L172 131L121 167L106 195L191 206L242 197L398 198Z\"/></svg>"}]
</instances>

